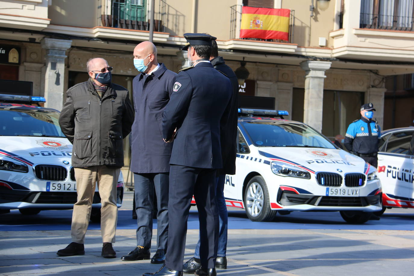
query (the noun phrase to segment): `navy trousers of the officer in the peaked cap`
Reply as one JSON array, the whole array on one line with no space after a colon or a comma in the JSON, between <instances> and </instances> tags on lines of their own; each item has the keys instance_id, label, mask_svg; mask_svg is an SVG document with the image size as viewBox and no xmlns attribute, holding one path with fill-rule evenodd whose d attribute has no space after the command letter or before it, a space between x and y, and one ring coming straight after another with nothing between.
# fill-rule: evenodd
<instances>
[{"instance_id":1,"label":"navy trousers of the officer in the peaked cap","mask_svg":"<svg viewBox=\"0 0 414 276\"><path fill-rule=\"evenodd\" d=\"M215 199L216 171L216 169L171 165L168 250L165 262L169 269L183 270L188 211L193 194L200 221L201 265L214 268L219 237L219 216Z\"/></svg>"}]
</instances>

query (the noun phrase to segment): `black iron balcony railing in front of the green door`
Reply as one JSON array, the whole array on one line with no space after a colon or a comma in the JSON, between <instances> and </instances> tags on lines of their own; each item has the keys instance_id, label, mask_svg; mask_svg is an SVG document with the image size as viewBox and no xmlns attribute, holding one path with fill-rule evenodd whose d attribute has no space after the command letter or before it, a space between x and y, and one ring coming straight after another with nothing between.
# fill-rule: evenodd
<instances>
[{"instance_id":1,"label":"black iron balcony railing in front of the green door","mask_svg":"<svg viewBox=\"0 0 414 276\"><path fill-rule=\"evenodd\" d=\"M101 0L98 0L98 26L149 31L147 1L112 0L110 9L102 12ZM166 0L158 0L159 9L154 14L154 31L164 32ZM140 3L138 5L136 3ZM110 12L108 12L110 10Z\"/></svg>"}]
</instances>

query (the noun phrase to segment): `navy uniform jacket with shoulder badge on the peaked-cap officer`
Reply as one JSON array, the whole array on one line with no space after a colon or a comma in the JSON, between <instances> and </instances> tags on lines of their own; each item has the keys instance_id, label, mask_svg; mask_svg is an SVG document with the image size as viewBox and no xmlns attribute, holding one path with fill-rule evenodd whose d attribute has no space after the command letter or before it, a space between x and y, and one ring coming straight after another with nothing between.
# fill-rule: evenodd
<instances>
[{"instance_id":1,"label":"navy uniform jacket with shoulder badge on the peaked-cap officer","mask_svg":"<svg viewBox=\"0 0 414 276\"><path fill-rule=\"evenodd\" d=\"M230 113L232 87L210 62L199 62L178 73L163 115L163 137L177 128L170 164L221 168L220 125Z\"/></svg>"}]
</instances>

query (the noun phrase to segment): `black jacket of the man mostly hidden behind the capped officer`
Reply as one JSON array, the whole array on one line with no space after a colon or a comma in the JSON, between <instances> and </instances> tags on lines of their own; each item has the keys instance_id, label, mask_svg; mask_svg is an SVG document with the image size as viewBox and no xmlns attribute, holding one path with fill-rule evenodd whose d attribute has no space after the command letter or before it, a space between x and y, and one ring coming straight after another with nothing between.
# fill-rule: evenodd
<instances>
[{"instance_id":1,"label":"black jacket of the man mostly hidden behind the capped officer","mask_svg":"<svg viewBox=\"0 0 414 276\"><path fill-rule=\"evenodd\" d=\"M221 129L221 156L223 168L220 174L233 175L236 173L236 152L237 152L237 116L238 116L238 81L233 70L226 65L223 57L216 57L210 60L214 69L224 73L231 82L233 93L231 94L231 107L229 120Z\"/></svg>"}]
</instances>

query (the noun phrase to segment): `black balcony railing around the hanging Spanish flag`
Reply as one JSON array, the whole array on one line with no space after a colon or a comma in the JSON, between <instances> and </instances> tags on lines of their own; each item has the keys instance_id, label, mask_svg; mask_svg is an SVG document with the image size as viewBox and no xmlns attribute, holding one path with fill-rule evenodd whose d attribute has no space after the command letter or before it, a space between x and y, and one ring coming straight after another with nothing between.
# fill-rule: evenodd
<instances>
[{"instance_id":1,"label":"black balcony railing around the hanging Spanish flag","mask_svg":"<svg viewBox=\"0 0 414 276\"><path fill-rule=\"evenodd\" d=\"M233 5L230 7L230 39L249 39L258 41L288 42L293 43L293 29L295 26L295 11L290 10L289 17L289 40L282 39L262 39L262 38L240 38L241 14L243 5ZM240 22L238 24L238 22Z\"/></svg>"}]
</instances>

